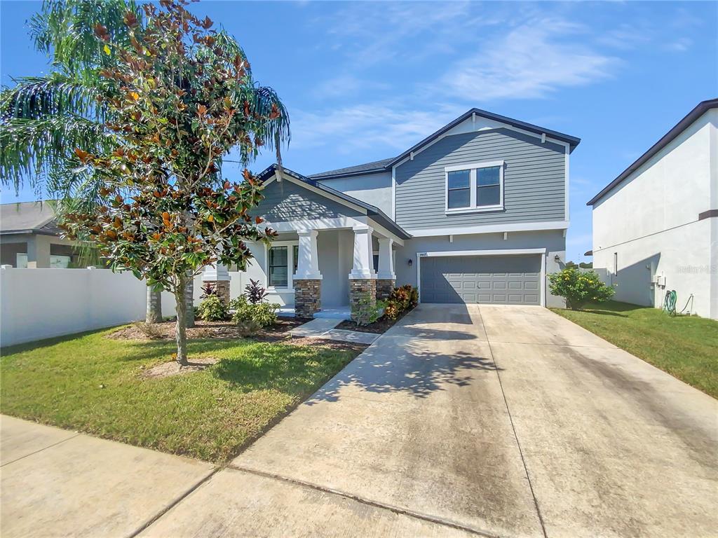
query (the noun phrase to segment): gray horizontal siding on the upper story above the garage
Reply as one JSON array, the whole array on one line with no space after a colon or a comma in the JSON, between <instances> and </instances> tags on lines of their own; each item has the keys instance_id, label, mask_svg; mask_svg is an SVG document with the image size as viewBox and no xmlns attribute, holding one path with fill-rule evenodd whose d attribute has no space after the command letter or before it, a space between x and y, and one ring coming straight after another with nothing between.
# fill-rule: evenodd
<instances>
[{"instance_id":1,"label":"gray horizontal siding on the upper story above the garage","mask_svg":"<svg viewBox=\"0 0 718 538\"><path fill-rule=\"evenodd\" d=\"M564 147L509 129L447 136L396 168L396 222L412 228L564 220ZM444 167L505 161L504 209L444 212Z\"/></svg>"}]
</instances>

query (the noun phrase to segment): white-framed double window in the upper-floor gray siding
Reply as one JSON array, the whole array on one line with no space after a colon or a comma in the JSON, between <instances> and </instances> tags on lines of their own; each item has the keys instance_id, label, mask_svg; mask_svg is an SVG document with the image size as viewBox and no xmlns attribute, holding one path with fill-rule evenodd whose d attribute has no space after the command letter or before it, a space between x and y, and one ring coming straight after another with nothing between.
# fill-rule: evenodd
<instances>
[{"instance_id":1,"label":"white-framed double window in the upper-floor gray siding","mask_svg":"<svg viewBox=\"0 0 718 538\"><path fill-rule=\"evenodd\" d=\"M447 166L446 212L503 209L503 161Z\"/></svg>"}]
</instances>

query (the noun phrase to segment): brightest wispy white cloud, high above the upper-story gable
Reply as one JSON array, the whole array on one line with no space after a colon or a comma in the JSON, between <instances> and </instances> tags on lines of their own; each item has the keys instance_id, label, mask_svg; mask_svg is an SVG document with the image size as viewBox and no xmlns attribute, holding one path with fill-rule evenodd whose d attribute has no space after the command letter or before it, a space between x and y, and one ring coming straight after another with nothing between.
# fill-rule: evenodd
<instances>
[{"instance_id":1,"label":"brightest wispy white cloud, high above the upper-story gable","mask_svg":"<svg viewBox=\"0 0 718 538\"><path fill-rule=\"evenodd\" d=\"M442 77L452 95L474 102L542 98L559 88L610 77L619 60L581 44L584 31L561 19L526 22Z\"/></svg>"}]
</instances>

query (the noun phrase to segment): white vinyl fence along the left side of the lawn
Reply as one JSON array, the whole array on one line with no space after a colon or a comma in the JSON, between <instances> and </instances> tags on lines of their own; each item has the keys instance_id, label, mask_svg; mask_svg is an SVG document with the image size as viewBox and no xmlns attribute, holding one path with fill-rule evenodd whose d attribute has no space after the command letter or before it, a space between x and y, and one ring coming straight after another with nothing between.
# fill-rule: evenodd
<instances>
[{"instance_id":1,"label":"white vinyl fence along the left side of the lawn","mask_svg":"<svg viewBox=\"0 0 718 538\"><path fill-rule=\"evenodd\" d=\"M195 281L195 296L200 280ZM147 286L132 273L109 269L0 269L0 345L144 319ZM162 314L174 296L162 293Z\"/></svg>"}]
</instances>

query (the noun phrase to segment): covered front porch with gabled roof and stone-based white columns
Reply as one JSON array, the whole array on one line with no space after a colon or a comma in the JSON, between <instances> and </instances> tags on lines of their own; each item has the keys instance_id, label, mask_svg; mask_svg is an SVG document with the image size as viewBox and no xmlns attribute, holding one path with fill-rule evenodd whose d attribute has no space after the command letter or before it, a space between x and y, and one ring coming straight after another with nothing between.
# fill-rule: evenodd
<instances>
[{"instance_id":1,"label":"covered front porch with gabled roof and stone-based white columns","mask_svg":"<svg viewBox=\"0 0 718 538\"><path fill-rule=\"evenodd\" d=\"M282 312L355 318L391 293L395 250L410 236L376 207L284 169L264 180L264 200L253 213L279 235L251 249L255 259L239 278L260 280ZM216 268L204 280L226 274Z\"/></svg>"}]
</instances>

